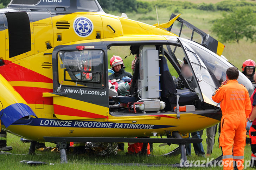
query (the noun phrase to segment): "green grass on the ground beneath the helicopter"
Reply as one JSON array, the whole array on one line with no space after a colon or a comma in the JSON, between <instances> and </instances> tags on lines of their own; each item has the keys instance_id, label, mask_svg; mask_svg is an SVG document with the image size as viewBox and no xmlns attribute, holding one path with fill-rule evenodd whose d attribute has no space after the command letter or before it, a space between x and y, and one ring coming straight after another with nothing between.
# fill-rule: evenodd
<instances>
[{"instance_id":1,"label":"green grass on the ground beneath the helicopter","mask_svg":"<svg viewBox=\"0 0 256 170\"><path fill-rule=\"evenodd\" d=\"M206 130L204 130L203 134L203 147L206 152L207 144L206 144ZM7 145L11 145L13 147L12 151L9 151L13 154L27 154L28 148L30 146L29 143L22 143L19 141L19 137L14 136L12 134L7 133ZM213 147L213 154L211 158L216 158L221 155L221 150L218 147L218 133L215 137L215 145ZM46 146L55 147L53 143L46 143ZM36 151L37 155L0 155L0 165L1 170L9 170L9 169L54 169L54 170L62 170L62 169L111 169L111 170L119 170L119 169L159 169L159 167L150 167L147 166L113 166L113 165L96 165L95 163L140 163L140 164L174 164L179 163L180 155L175 157L166 157L161 156L162 154L166 154L167 152L175 149L178 145L172 144L169 146L159 147L158 143L154 143L154 151L152 156L127 156L125 152L127 152L128 144L125 144L124 152L118 152L115 156L88 156L88 155L74 155L68 154L68 163L60 164L60 154L58 152L40 152ZM250 160L250 146L245 146L245 160ZM19 163L19 161L27 160L27 161L44 161L48 163L54 163L55 165L41 165L41 166L29 166L23 163ZM192 156L188 157L188 160L207 160L204 157L198 157L195 155L193 146L192 146ZM178 169L178 168L170 168L167 166L161 166L160 169ZM205 169L205 168L190 168L190 169ZM206 169L222 169L220 167L216 168L206 168Z\"/></svg>"}]
</instances>

